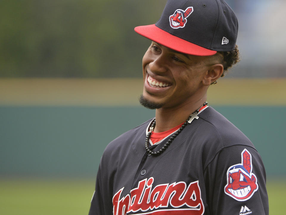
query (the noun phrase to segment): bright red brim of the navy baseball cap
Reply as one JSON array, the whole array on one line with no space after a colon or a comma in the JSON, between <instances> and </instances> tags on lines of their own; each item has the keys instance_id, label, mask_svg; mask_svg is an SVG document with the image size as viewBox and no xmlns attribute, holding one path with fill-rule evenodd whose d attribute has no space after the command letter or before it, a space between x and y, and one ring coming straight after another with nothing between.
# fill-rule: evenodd
<instances>
[{"instance_id":1,"label":"bright red brim of the navy baseball cap","mask_svg":"<svg viewBox=\"0 0 286 215\"><path fill-rule=\"evenodd\" d=\"M164 30L155 26L155 24L138 26L134 30L143 37L146 37L156 43L159 43L175 51L179 51L185 54L209 56L217 53L217 51L203 48L199 45L190 43L168 32L165 32Z\"/></svg>"}]
</instances>

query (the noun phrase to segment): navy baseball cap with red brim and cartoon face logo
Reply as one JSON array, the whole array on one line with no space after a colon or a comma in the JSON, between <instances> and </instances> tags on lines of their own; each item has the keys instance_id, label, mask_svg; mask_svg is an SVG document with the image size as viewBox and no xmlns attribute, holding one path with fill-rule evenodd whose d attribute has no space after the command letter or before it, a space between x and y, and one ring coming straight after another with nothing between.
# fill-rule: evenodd
<instances>
[{"instance_id":1,"label":"navy baseball cap with red brim and cartoon face logo","mask_svg":"<svg viewBox=\"0 0 286 215\"><path fill-rule=\"evenodd\" d=\"M134 30L175 51L209 56L234 50L238 22L223 0L168 0L155 24Z\"/></svg>"}]
</instances>

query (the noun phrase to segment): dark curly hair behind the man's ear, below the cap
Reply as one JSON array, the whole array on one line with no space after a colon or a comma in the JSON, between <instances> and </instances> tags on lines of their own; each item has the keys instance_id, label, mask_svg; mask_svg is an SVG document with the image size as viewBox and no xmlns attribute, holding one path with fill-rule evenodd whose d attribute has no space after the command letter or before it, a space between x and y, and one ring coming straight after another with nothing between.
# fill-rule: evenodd
<instances>
[{"instance_id":1,"label":"dark curly hair behind the man's ear, below the cap","mask_svg":"<svg viewBox=\"0 0 286 215\"><path fill-rule=\"evenodd\" d=\"M223 74L221 75L221 77L223 77L226 75L229 68L240 61L240 52L238 46L235 45L234 50L222 51L219 53L223 55Z\"/></svg>"}]
</instances>

